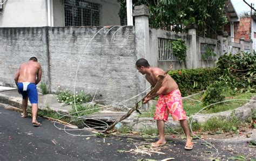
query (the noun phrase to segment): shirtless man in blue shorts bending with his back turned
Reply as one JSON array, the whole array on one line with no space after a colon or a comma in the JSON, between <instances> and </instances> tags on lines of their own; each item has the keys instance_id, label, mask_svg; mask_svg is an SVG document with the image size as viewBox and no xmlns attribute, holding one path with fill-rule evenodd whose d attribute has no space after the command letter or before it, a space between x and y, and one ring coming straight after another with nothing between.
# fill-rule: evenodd
<instances>
[{"instance_id":1,"label":"shirtless man in blue shorts bending with his back turned","mask_svg":"<svg viewBox=\"0 0 256 161\"><path fill-rule=\"evenodd\" d=\"M34 126L41 126L36 120L38 110L38 94L36 85L41 81L42 67L37 62L36 57L31 57L29 62L23 63L15 74L15 83L18 87L18 93L22 94L22 117L26 117L28 113L26 108L28 106L28 99L32 106L32 124Z\"/></svg>"}]
</instances>

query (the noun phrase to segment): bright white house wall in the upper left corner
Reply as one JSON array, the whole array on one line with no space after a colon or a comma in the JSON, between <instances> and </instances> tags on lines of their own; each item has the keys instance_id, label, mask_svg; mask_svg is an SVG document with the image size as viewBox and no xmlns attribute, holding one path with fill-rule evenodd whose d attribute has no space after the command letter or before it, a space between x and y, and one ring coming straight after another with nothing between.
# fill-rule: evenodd
<instances>
[{"instance_id":1,"label":"bright white house wall in the upper left corner","mask_svg":"<svg viewBox=\"0 0 256 161\"><path fill-rule=\"evenodd\" d=\"M1 27L47 26L46 0L8 0L0 13Z\"/></svg>"}]
</instances>

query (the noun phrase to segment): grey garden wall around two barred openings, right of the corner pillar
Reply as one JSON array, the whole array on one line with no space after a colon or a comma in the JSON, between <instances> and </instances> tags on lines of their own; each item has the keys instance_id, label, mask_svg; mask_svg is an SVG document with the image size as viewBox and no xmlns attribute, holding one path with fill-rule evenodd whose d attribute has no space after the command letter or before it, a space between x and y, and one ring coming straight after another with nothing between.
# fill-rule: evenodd
<instances>
[{"instance_id":1,"label":"grey garden wall around two barred openings, right of the corner pillar","mask_svg":"<svg viewBox=\"0 0 256 161\"><path fill-rule=\"evenodd\" d=\"M150 29L150 55L148 56L149 62L151 66L156 66L164 69L170 68L170 65L173 64L173 69L180 68L200 68L200 67L214 67L214 62L220 57L221 45L218 43L218 40L210 39L210 38L201 38L196 37L196 46L194 46L192 40L192 34L177 34L175 32L164 31L164 30L156 30ZM187 61L186 64L180 63L178 60L170 60L170 61L159 61L158 60L158 38L177 40L181 38L185 41L187 46ZM217 54L213 60L201 60L200 56L200 44L211 44L215 45L214 52ZM194 53L196 52L196 53ZM192 54L191 54L192 53Z\"/></svg>"}]
</instances>

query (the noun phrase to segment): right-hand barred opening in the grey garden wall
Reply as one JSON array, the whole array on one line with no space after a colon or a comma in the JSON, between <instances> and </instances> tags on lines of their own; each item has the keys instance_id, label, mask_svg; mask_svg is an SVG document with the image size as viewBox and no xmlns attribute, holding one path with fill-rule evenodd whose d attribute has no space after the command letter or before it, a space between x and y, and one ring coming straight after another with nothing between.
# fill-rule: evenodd
<instances>
[{"instance_id":1,"label":"right-hand barred opening in the grey garden wall","mask_svg":"<svg viewBox=\"0 0 256 161\"><path fill-rule=\"evenodd\" d=\"M200 44L201 60L213 60L216 56L214 52L215 45L212 44Z\"/></svg>"}]
</instances>

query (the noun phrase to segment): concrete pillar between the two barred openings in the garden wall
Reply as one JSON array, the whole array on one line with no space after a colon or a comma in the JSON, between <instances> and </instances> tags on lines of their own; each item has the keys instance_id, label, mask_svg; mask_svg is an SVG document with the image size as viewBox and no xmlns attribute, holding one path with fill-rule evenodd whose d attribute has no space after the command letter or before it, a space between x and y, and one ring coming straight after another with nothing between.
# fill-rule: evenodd
<instances>
[{"instance_id":1,"label":"concrete pillar between the two barred openings in the garden wall","mask_svg":"<svg viewBox=\"0 0 256 161\"><path fill-rule=\"evenodd\" d=\"M197 25L188 25L188 34L191 35L192 41L190 46L188 46L187 52L187 68L198 68L199 61L201 60L199 52L197 52Z\"/></svg>"}]
</instances>

